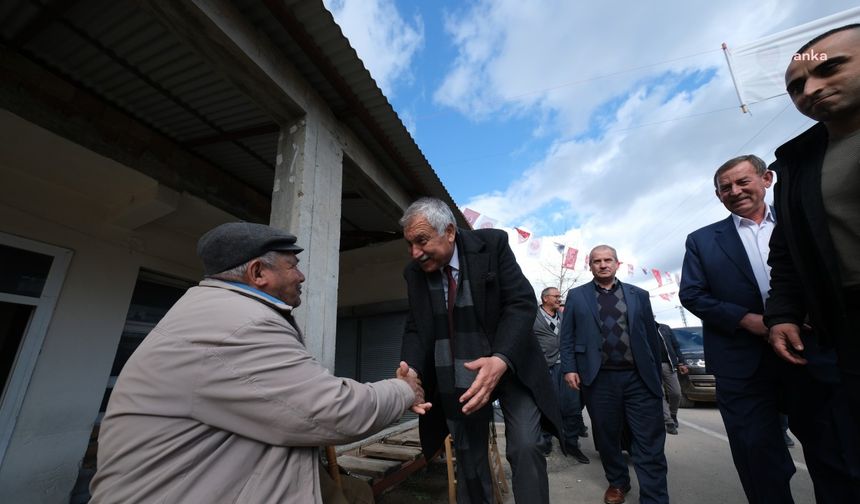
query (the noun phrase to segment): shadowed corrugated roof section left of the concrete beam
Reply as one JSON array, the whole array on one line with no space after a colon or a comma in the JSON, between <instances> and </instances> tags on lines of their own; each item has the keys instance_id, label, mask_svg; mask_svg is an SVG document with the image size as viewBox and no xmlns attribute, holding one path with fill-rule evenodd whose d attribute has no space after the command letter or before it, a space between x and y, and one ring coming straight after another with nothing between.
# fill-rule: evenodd
<instances>
[{"instance_id":1,"label":"shadowed corrugated roof section left of the concrete beam","mask_svg":"<svg viewBox=\"0 0 860 504\"><path fill-rule=\"evenodd\" d=\"M51 6L10 1L0 21L4 40L38 62L125 110L179 143L263 124L276 127L245 94L130 0L65 2L47 24ZM13 42L14 44L14 42ZM277 135L190 148L263 195L274 179Z\"/></svg>"}]
</instances>

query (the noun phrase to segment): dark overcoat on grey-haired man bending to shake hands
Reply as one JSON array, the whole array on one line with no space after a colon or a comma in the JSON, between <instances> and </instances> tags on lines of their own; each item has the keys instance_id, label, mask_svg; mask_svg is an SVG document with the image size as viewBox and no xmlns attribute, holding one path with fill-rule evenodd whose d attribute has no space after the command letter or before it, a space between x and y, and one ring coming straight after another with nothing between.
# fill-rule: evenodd
<instances>
[{"instance_id":1,"label":"dark overcoat on grey-haired man bending to shake hands","mask_svg":"<svg viewBox=\"0 0 860 504\"><path fill-rule=\"evenodd\" d=\"M561 417L546 360L532 336L537 314L534 289L523 275L508 245L508 235L496 229L457 230L460 260L466 261L472 302L478 320L489 339L492 354L501 354L511 363L505 380L519 380L532 393L543 414L545 430L561 433ZM403 272L409 295L409 315L403 335L402 360L422 379L426 397L436 394L433 349L433 308L427 274L411 261ZM442 408L434 407L419 419L421 447L432 456L448 434Z\"/></svg>"}]
</instances>

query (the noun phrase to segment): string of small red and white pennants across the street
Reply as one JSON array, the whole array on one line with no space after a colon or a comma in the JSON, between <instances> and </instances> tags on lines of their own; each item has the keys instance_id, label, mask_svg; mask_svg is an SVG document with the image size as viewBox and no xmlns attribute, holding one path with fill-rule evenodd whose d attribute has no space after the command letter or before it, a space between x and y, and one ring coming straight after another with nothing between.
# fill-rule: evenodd
<instances>
[{"instance_id":1,"label":"string of small red and white pennants across the street","mask_svg":"<svg viewBox=\"0 0 860 504\"><path fill-rule=\"evenodd\" d=\"M475 210L472 210L471 208L464 208L463 209L463 216L466 217L466 220L469 222L469 225L472 226L472 229L495 228L496 223L498 222L497 219L493 219L493 218L490 218L486 215L482 215L481 213L476 212ZM525 244L527 254L529 255L529 257L539 257L541 249L543 247L544 240L539 236L532 236L531 232L526 231L525 229L522 229L519 227L514 227L514 231L517 234L517 243L520 245ZM552 244L555 247L555 249L558 251L558 253L561 254L562 257L564 258L563 262L562 262L562 266L564 268L567 268L570 270L575 270L577 268L576 264L577 264L577 258L579 257L579 249L574 248L574 247L568 247L567 245L564 245L563 243L558 243L555 241L552 242ZM583 270L588 270L588 263L589 263L588 254L585 254L585 257L582 260L582 269ZM623 261L619 261L618 264L619 264L619 266L622 267L622 268L619 268L619 270L623 271L623 266L625 266L625 263ZM668 288L668 286L670 286L670 285L677 286L681 283L680 277L678 276L677 273L675 273L674 277L673 277L673 275L671 273L669 273L668 271L660 271L658 268L640 267L637 270L635 265L633 265L633 264L628 263L628 264L626 264L626 266L627 266L627 276L628 277L634 277L634 276L638 275L639 271L641 271L642 275L644 275L646 277L649 276L649 273L650 273L650 276L653 276L654 279L657 280L657 287L658 288L662 288L664 286L667 286L667 288ZM671 291L671 292L660 293L660 294L658 294L658 296L661 299L669 301L676 294L677 294L677 291Z\"/></svg>"}]
</instances>

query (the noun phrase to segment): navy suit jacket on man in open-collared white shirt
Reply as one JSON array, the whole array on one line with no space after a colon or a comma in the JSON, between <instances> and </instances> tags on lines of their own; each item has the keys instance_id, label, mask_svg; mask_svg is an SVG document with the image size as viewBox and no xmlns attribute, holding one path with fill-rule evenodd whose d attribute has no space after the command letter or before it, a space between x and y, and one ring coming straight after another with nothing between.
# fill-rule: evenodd
<instances>
[{"instance_id":1,"label":"navy suit jacket on man in open-collared white shirt","mask_svg":"<svg viewBox=\"0 0 860 504\"><path fill-rule=\"evenodd\" d=\"M705 365L718 376L748 378L770 347L738 327L748 312L763 314L764 304L732 216L690 233L686 247L678 295L702 319Z\"/></svg>"}]
</instances>

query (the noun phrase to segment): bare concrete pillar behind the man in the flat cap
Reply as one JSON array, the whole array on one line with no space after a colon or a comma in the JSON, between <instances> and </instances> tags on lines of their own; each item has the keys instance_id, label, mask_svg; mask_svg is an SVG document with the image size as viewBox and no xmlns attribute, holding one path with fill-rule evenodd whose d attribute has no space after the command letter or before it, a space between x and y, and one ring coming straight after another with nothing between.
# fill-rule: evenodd
<instances>
[{"instance_id":1,"label":"bare concrete pillar behind the man in the flat cap","mask_svg":"<svg viewBox=\"0 0 860 504\"><path fill-rule=\"evenodd\" d=\"M335 135L306 116L278 140L271 225L298 237L306 280L296 320L308 350L334 371L343 151Z\"/></svg>"}]
</instances>

